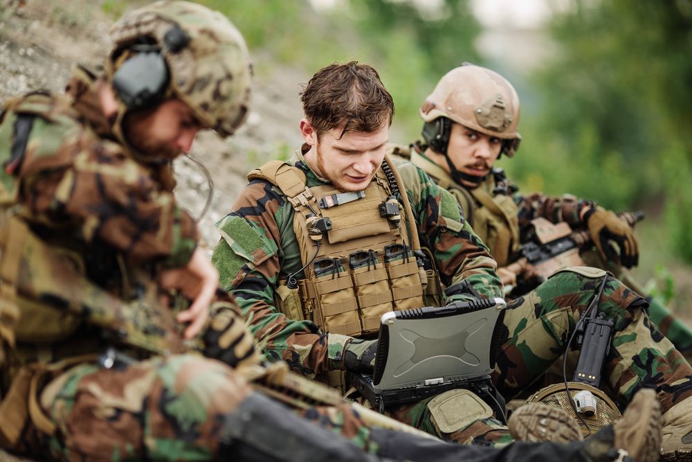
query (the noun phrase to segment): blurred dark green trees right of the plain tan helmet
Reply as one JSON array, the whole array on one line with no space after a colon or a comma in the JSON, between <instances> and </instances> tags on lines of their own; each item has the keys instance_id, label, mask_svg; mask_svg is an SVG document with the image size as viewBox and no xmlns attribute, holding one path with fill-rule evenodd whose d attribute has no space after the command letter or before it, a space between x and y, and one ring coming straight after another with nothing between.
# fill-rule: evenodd
<instances>
[{"instance_id":1,"label":"blurred dark green trees right of the plain tan helmet","mask_svg":"<svg viewBox=\"0 0 692 462\"><path fill-rule=\"evenodd\" d=\"M507 168L548 193L616 209L666 204L692 262L692 1L572 0L554 17L554 60L531 76L538 116Z\"/></svg>"}]
</instances>

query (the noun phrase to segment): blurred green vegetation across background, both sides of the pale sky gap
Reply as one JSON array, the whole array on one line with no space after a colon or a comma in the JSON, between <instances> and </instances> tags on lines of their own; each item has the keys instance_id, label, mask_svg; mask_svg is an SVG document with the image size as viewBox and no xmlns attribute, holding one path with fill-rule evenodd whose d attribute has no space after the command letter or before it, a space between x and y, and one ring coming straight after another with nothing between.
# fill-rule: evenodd
<instances>
[{"instance_id":1,"label":"blurred green vegetation across background, both sides of the pale sky gap","mask_svg":"<svg viewBox=\"0 0 692 462\"><path fill-rule=\"evenodd\" d=\"M418 109L449 69L470 61L508 70L475 50L481 29L470 0L432 10L421 6L435 2L412 0L334 0L322 10L308 0L200 1L235 22L257 73L275 62L308 75L336 61L375 66L397 105L396 132L409 134L397 142L419 134ZM616 210L664 204L657 255L670 243L668 258L692 262L692 1L570 4L549 24L554 58L523 81L510 76L525 103L524 140L500 165L527 192L569 192Z\"/></svg>"}]
</instances>

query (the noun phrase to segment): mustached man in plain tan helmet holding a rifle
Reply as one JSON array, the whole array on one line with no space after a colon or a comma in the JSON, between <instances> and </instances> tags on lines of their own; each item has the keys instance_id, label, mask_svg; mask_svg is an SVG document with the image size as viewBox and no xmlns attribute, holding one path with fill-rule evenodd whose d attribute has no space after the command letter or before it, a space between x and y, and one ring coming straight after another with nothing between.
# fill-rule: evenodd
<instances>
[{"instance_id":1,"label":"mustached man in plain tan helmet holding a rifle","mask_svg":"<svg viewBox=\"0 0 692 462\"><path fill-rule=\"evenodd\" d=\"M507 127L495 127L488 121L481 123L473 116L473 110L486 104L491 97L494 98L495 91L500 92L500 114L504 111L508 117L513 118ZM457 99L453 97L454 94L457 94ZM462 103L461 98L464 97L468 101ZM437 107L430 109L430 105ZM554 223L565 222L573 229L588 229L597 251L582 252L585 262L608 269L629 287L643 292L639 283L625 269L636 266L639 260L637 238L625 220L597 207L594 201L577 199L571 195L522 195L515 185L507 181L501 169L493 169L495 160L501 154L481 152L475 157L468 155L462 159L459 152L464 146L459 146L456 150L453 146L448 150L444 140L435 141L440 130L459 131L459 128L455 128L456 123L472 132L478 131L491 136L495 146L502 145L502 154L512 157L520 141L516 131L519 98L511 84L501 75L480 66L465 65L453 69L426 98L421 116L426 121L424 141L412 143L410 148L392 145L392 150L425 170L437 184L448 189L458 199L471 226L497 260L500 267L498 273L505 284L513 285L517 278L520 282L529 278L530 269L511 263L516 258L522 236L527 233L531 220L544 217ZM447 139L450 134L444 133L442 136ZM619 243L620 255L606 242L608 240ZM649 297L647 301L650 319L659 330L681 353L692 353L692 330L675 318L659 299Z\"/></svg>"}]
</instances>

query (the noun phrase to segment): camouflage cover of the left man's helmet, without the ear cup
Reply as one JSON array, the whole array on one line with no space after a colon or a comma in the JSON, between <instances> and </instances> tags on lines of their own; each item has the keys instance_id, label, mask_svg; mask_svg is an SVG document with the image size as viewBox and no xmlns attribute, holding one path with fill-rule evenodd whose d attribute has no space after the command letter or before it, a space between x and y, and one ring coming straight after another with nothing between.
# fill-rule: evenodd
<instances>
[{"instance_id":1,"label":"camouflage cover of the left man's helmet, without the ear cup","mask_svg":"<svg viewBox=\"0 0 692 462\"><path fill-rule=\"evenodd\" d=\"M170 90L204 126L221 136L233 134L248 112L252 65L242 35L220 12L188 1L161 0L126 13L111 28L109 74L117 50L140 37L163 44L173 25L189 42L179 51L163 51Z\"/></svg>"}]
</instances>

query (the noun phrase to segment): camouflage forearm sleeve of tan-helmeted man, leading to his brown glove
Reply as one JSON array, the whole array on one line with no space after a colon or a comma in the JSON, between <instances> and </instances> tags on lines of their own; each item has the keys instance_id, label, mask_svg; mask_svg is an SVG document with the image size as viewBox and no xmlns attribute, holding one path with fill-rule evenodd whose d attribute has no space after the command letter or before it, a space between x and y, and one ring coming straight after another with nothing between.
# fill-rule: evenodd
<instances>
[{"instance_id":1,"label":"camouflage forearm sleeve of tan-helmeted man, leading to his brown glove","mask_svg":"<svg viewBox=\"0 0 692 462\"><path fill-rule=\"evenodd\" d=\"M595 202L577 199L573 195L565 194L561 197L550 197L543 193L532 193L527 196L520 193L514 194L514 202L519 208L519 227L525 228L534 218L543 217L549 222L566 222L570 227L581 226L581 211L584 207L591 207Z\"/></svg>"}]
</instances>

